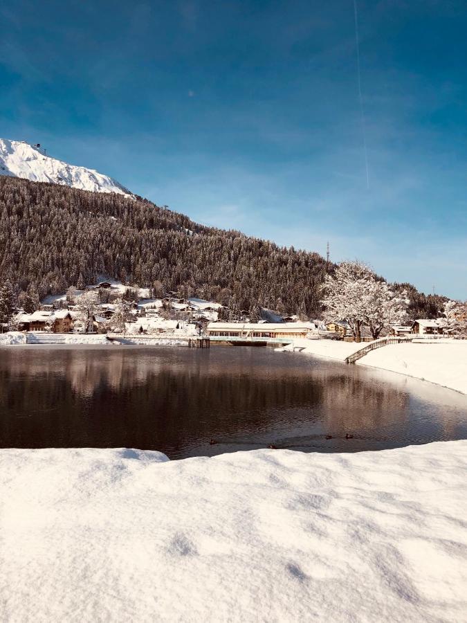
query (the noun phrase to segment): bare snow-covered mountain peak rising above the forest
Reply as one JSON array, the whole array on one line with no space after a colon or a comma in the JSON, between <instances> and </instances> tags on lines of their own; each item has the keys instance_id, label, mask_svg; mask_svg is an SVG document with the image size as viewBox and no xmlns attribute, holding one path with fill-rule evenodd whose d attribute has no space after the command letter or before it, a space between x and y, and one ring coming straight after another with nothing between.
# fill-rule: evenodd
<instances>
[{"instance_id":1,"label":"bare snow-covered mountain peak rising above the forest","mask_svg":"<svg viewBox=\"0 0 467 623\"><path fill-rule=\"evenodd\" d=\"M0 175L63 184L80 190L131 195L125 186L107 175L46 156L40 145L8 138L0 138Z\"/></svg>"}]
</instances>

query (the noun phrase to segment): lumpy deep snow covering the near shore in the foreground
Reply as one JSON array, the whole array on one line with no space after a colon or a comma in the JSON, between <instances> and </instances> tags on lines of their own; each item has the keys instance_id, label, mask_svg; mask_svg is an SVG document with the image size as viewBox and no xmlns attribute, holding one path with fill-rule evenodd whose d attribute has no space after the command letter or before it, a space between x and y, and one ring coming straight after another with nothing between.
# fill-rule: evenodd
<instances>
[{"instance_id":1,"label":"lumpy deep snow covering the near shore in the foreground","mask_svg":"<svg viewBox=\"0 0 467 623\"><path fill-rule=\"evenodd\" d=\"M2 450L2 620L465 621L466 456Z\"/></svg>"}]
</instances>

